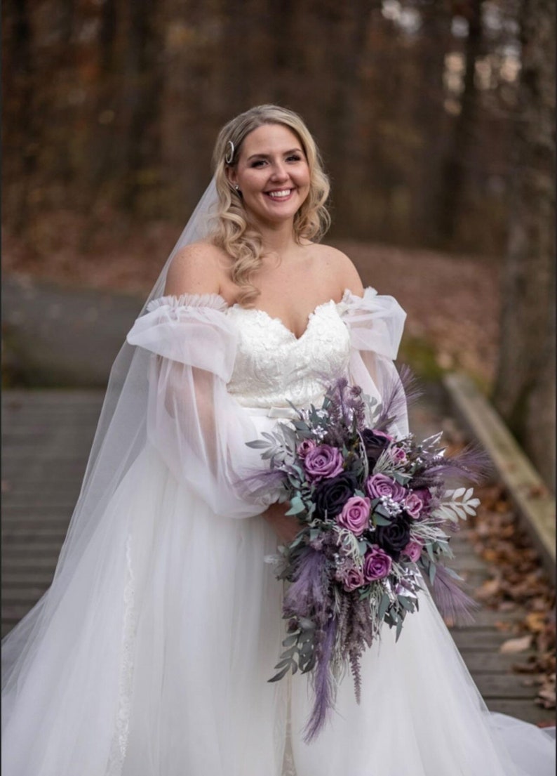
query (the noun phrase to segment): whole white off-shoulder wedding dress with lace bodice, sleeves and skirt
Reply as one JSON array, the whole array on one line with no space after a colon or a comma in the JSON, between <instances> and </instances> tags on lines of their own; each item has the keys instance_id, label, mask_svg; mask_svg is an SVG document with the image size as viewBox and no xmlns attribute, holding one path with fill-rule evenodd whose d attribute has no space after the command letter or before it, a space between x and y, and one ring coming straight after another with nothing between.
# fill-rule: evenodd
<instances>
[{"instance_id":1,"label":"whole white off-shoulder wedding dress with lace bodice, sleeves and skirt","mask_svg":"<svg viewBox=\"0 0 557 776\"><path fill-rule=\"evenodd\" d=\"M426 592L399 641L385 628L366 653L360 705L341 681L314 743L307 677L267 681L284 638L260 517L275 496L246 477L263 466L246 442L339 376L380 396L403 324L373 289L319 305L300 338L215 294L150 303L128 335L149 354L146 438L8 637L5 776L553 773L544 731L487 712Z\"/></svg>"}]
</instances>

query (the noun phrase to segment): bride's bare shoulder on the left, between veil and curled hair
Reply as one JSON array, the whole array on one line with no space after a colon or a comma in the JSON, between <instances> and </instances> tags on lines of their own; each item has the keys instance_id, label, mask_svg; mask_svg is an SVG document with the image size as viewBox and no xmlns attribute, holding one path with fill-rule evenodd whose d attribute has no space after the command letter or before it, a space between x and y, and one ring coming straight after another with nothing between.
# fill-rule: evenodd
<instances>
[{"instance_id":1,"label":"bride's bare shoulder on the left, between veil and curled hair","mask_svg":"<svg viewBox=\"0 0 557 776\"><path fill-rule=\"evenodd\" d=\"M207 241L194 242L172 259L164 293L219 293L222 276L222 251Z\"/></svg>"}]
</instances>

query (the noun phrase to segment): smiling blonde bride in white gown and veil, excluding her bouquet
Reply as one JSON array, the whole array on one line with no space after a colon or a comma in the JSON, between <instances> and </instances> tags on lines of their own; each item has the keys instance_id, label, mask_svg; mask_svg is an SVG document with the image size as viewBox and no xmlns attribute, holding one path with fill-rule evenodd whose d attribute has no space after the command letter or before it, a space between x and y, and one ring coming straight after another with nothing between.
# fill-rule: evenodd
<instances>
[{"instance_id":1,"label":"smiling blonde bride in white gown and veil, excluding her bouquet","mask_svg":"<svg viewBox=\"0 0 557 776\"><path fill-rule=\"evenodd\" d=\"M53 584L5 639L3 773L553 773L545 732L487 711L427 592L313 743L307 677L267 681L284 634L266 556L297 525L246 478L246 442L339 376L380 397L404 312L318 242L328 180L299 116L242 113L214 165L112 369Z\"/></svg>"}]
</instances>

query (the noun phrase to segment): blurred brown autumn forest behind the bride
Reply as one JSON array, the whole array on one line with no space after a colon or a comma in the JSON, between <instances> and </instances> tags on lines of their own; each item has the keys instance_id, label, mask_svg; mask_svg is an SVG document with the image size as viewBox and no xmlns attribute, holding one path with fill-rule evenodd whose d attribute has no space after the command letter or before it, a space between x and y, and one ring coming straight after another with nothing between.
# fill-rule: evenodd
<instances>
[{"instance_id":1,"label":"blurred brown autumn forest behind the bride","mask_svg":"<svg viewBox=\"0 0 557 776\"><path fill-rule=\"evenodd\" d=\"M144 296L216 133L304 116L330 239L555 487L552 0L5 0L5 276Z\"/></svg>"}]
</instances>

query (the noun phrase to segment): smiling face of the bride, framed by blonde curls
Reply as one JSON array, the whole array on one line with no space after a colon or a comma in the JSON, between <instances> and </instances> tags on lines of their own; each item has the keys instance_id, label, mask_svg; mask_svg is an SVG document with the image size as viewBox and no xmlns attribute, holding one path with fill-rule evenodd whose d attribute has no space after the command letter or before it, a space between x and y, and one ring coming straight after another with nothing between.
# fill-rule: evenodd
<instances>
[{"instance_id":1,"label":"smiling face of the bride, framed by blonde curls","mask_svg":"<svg viewBox=\"0 0 557 776\"><path fill-rule=\"evenodd\" d=\"M308 196L310 171L300 139L287 126L263 124L246 135L229 168L249 216L262 225L293 220Z\"/></svg>"}]
</instances>

